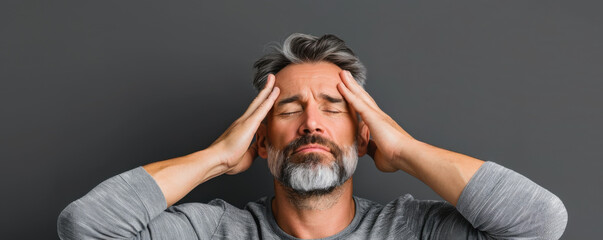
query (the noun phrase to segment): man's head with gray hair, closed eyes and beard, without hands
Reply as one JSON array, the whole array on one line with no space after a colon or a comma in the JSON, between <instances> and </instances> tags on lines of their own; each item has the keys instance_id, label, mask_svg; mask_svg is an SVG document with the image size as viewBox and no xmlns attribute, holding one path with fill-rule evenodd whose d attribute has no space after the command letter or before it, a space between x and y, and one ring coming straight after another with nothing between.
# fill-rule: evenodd
<instances>
[{"instance_id":1,"label":"man's head with gray hair, closed eyes and beard, without hands","mask_svg":"<svg viewBox=\"0 0 603 240\"><path fill-rule=\"evenodd\" d=\"M366 153L368 128L337 90L348 70L363 85L366 70L344 42L293 34L259 59L254 86L275 74L281 89L257 132L258 153L275 179L300 195L323 195L345 183Z\"/></svg>"}]
</instances>

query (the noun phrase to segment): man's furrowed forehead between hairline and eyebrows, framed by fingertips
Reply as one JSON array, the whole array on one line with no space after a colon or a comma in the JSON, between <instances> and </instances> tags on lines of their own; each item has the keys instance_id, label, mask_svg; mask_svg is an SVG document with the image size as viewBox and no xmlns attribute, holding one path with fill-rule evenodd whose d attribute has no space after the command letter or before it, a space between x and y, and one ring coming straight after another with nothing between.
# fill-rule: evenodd
<instances>
[{"instance_id":1,"label":"man's furrowed forehead between hairline and eyebrows, framed by fingertips","mask_svg":"<svg viewBox=\"0 0 603 240\"><path fill-rule=\"evenodd\" d=\"M340 95L337 83L341 82L341 71L329 62L290 64L275 74L275 86L281 89L279 98L310 92Z\"/></svg>"}]
</instances>

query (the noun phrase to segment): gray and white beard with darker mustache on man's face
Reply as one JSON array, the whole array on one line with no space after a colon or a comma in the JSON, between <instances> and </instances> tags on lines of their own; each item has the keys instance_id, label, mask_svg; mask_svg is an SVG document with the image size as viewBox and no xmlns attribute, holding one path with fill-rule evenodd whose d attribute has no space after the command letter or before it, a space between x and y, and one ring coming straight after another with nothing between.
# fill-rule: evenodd
<instances>
[{"instance_id":1,"label":"gray and white beard with darker mustache on man's face","mask_svg":"<svg viewBox=\"0 0 603 240\"><path fill-rule=\"evenodd\" d=\"M342 148L339 159L322 163L325 154L308 153L304 161L294 163L282 150L267 144L268 167L274 178L298 196L321 196L331 193L345 183L356 170L358 149L356 142ZM331 156L331 158L333 158Z\"/></svg>"}]
</instances>

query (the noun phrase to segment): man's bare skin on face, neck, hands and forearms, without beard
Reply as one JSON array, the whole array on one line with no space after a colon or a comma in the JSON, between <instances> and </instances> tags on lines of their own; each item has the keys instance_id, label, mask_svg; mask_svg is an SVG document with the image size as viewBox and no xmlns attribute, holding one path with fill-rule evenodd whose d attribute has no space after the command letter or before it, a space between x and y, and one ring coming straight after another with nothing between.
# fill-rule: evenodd
<instances>
[{"instance_id":1,"label":"man's bare skin on face, neck, hands and forearms, without beard","mask_svg":"<svg viewBox=\"0 0 603 240\"><path fill-rule=\"evenodd\" d=\"M327 103L321 97L323 93L342 98L345 107ZM294 103L275 105L295 95L299 98ZM329 112L332 110L341 112ZM294 113L280 115L291 112ZM356 119L356 113L363 121ZM340 146L356 139L359 156L369 154L377 169L402 170L453 205L483 164L479 159L414 139L377 106L348 71L319 62L289 65L276 76L269 75L265 88L245 113L207 149L144 168L155 179L170 206L197 185L224 173L245 171L258 155L266 158L268 142L282 149L303 134L321 134ZM257 141L252 143L254 135ZM333 191L332 196L326 196L334 199L331 204L321 205L324 199L305 199L305 204L315 207L299 208L275 181L272 208L277 223L290 235L324 238L340 232L353 219L352 195L350 179Z\"/></svg>"}]
</instances>

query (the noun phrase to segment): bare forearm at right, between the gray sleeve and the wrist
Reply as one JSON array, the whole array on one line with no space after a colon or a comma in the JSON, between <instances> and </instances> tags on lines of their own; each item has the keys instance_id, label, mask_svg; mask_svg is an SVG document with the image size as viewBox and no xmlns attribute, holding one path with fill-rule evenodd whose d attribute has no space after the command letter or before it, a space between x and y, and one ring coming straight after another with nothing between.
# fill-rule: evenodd
<instances>
[{"instance_id":1,"label":"bare forearm at right, between the gray sleeve and the wrist","mask_svg":"<svg viewBox=\"0 0 603 240\"><path fill-rule=\"evenodd\" d=\"M415 140L404 140L398 169L418 178L456 206L461 192L484 161Z\"/></svg>"}]
</instances>

